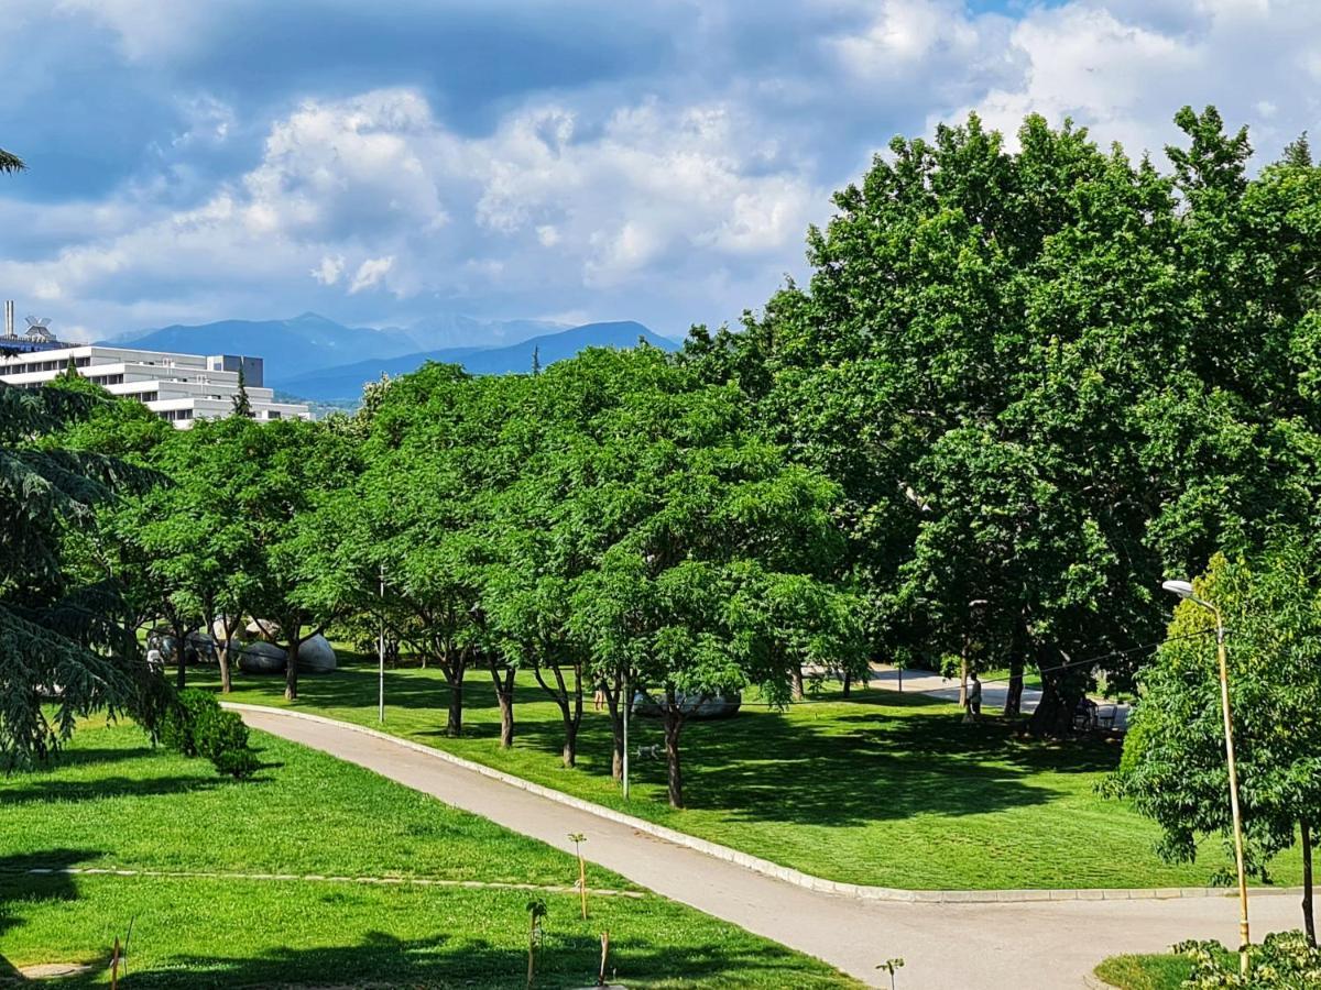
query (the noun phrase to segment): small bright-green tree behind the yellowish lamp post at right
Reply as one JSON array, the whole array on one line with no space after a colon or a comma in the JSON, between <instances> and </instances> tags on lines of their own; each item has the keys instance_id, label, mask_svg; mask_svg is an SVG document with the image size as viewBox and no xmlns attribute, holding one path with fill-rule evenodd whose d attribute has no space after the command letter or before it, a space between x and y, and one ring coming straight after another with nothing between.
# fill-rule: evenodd
<instances>
[{"instance_id":1,"label":"small bright-green tree behind the yellowish lamp post at right","mask_svg":"<svg viewBox=\"0 0 1321 990\"><path fill-rule=\"evenodd\" d=\"M1277 544L1258 564L1211 561L1194 582L1223 614L1239 800L1250 866L1301 842L1303 913L1316 944L1312 841L1321 822L1321 569L1316 548ZM1160 853L1192 862L1198 838L1231 836L1225 726L1210 612L1182 602L1141 673L1141 698L1107 789L1162 829Z\"/></svg>"}]
</instances>

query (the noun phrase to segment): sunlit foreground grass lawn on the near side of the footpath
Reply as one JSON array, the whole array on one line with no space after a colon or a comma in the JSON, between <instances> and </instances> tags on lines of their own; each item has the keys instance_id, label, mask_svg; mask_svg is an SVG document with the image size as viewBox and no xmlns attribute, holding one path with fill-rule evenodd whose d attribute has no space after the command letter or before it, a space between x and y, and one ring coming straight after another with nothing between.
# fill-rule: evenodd
<instances>
[{"instance_id":1,"label":"sunlit foreground grass lawn on the near side of the footpath","mask_svg":"<svg viewBox=\"0 0 1321 990\"><path fill-rule=\"evenodd\" d=\"M108 982L132 921L127 990L210 986L522 986L526 904L548 915L538 986L594 982L600 932L629 986L856 986L822 962L654 894L424 886L407 880L112 876L34 867L399 876L572 884L572 857L280 739L246 783L152 751L131 725L79 729L59 766L0 777L0 982L42 962ZM589 867L592 888L639 892Z\"/></svg>"}]
</instances>

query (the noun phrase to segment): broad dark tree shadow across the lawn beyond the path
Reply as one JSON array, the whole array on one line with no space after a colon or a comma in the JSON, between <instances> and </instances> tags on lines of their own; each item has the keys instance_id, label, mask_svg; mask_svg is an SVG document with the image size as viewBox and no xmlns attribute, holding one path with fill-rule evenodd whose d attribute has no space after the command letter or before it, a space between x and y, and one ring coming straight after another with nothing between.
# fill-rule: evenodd
<instances>
[{"instance_id":1,"label":"broad dark tree shadow across the lawn beyond the path","mask_svg":"<svg viewBox=\"0 0 1321 990\"><path fill-rule=\"evenodd\" d=\"M519 746L557 754L559 719L524 719ZM608 774L610 731L585 718L580 772ZM655 719L635 718L630 747L662 743ZM963 816L1041 805L1059 789L1053 774L1112 770L1119 750L1096 742L1018 739L1015 725L966 725L948 702L919 694L857 692L791 713L749 705L738 715L691 721L683 735L688 808L734 821L864 825L917 814ZM634 759L633 779L664 785L663 759Z\"/></svg>"}]
</instances>

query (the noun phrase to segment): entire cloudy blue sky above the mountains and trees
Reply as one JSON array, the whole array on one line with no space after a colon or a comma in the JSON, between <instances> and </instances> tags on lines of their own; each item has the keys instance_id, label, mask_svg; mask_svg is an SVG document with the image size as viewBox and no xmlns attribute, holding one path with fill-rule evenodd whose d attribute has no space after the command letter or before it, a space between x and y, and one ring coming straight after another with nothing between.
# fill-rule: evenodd
<instances>
[{"instance_id":1,"label":"entire cloudy blue sky above the mountains and trees","mask_svg":"<svg viewBox=\"0 0 1321 990\"><path fill-rule=\"evenodd\" d=\"M313 310L638 319L806 275L894 135L1029 112L1258 161L1321 133L1318 0L4 0L0 296L69 339ZM1162 156L1157 157L1164 161Z\"/></svg>"}]
</instances>

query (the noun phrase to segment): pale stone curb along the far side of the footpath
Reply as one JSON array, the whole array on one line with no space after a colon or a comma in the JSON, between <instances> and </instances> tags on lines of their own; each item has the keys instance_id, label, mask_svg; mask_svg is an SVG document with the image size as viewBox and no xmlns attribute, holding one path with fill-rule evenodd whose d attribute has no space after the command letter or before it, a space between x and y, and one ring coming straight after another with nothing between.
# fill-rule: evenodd
<instances>
[{"instance_id":1,"label":"pale stone curb along the far side of the footpath","mask_svg":"<svg viewBox=\"0 0 1321 990\"><path fill-rule=\"evenodd\" d=\"M384 742L402 746L407 750L413 750L415 752L424 754L427 756L435 756L436 759L452 763L456 767L462 767L474 774L481 774L491 780L498 780L502 784L510 787L517 787L520 791L527 791L538 797L544 797L559 804L568 805L569 808L577 808L579 810L594 814L598 818L605 818L608 821L614 821L621 825L627 825L637 832L642 832L647 836L671 842L676 846L683 846L684 849L691 849L697 853L704 853L705 855L713 857L716 859L724 859L725 862L741 866L745 870L752 870L753 873L762 874L764 876L771 876L777 880L783 880L785 883L791 883L795 887L803 887L806 890L816 891L819 894L834 894L841 898L849 898L853 900L908 900L908 902L923 902L923 903L939 903L939 904L993 904L993 903L1025 903L1025 902L1040 902L1040 900L1137 900L1137 899L1156 899L1156 900L1176 900L1185 898L1232 898L1236 892L1229 887L1162 887L1162 888L1099 888L1099 887L1082 887L1082 888L1066 888L1066 890L902 890L898 887L871 887L861 883L845 883L843 880L827 880L822 876L812 876L811 874L802 873L801 870L794 870L787 866L781 866L779 863L773 863L769 859L762 859L756 855L749 855L737 849L731 849L729 846L723 846L719 842L709 842L704 838L697 838L683 832L676 832L675 829L666 828L664 825L657 825L654 822L646 821L643 818L635 818L631 814L625 814L624 812L617 812L613 808L606 808L600 804L592 804L590 801L584 801L580 797L573 797L563 791L555 791L550 787L543 787L542 784L534 784L530 780L523 780L513 774L505 774L499 770L493 770L481 763L474 763L473 760L464 759L462 756L456 756L452 752L445 752L444 750L437 750L431 746L424 746L423 743L416 743L412 739L402 739L398 735L391 735L390 733L382 733L376 729L369 729L367 726L357 725L354 722L341 722L337 718L326 718L325 715L313 715L308 711L297 711L295 709L285 708L271 708L268 705L247 705L236 701L222 701L222 708L232 709L234 711L255 711L264 715L284 715L285 718L301 718L308 722L320 722L322 725L334 726L337 729L349 729L363 735L370 735ZM1254 888L1252 894L1255 896L1303 896L1303 887L1263 887Z\"/></svg>"}]
</instances>

